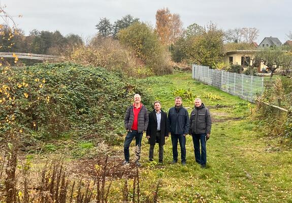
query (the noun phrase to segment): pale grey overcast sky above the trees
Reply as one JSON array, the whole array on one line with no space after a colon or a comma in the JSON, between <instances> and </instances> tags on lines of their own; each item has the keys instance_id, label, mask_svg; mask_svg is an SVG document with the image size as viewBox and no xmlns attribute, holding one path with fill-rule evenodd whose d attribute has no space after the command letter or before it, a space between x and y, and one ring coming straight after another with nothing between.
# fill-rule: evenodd
<instances>
[{"instance_id":1,"label":"pale grey overcast sky above the trees","mask_svg":"<svg viewBox=\"0 0 292 203\"><path fill-rule=\"evenodd\" d=\"M76 33L84 39L96 33L95 25L106 17L111 23L126 14L155 25L157 9L169 8L180 15L183 26L209 21L224 30L235 27L259 29L257 43L277 37L284 43L292 31L291 0L0 0L28 35L32 29Z\"/></svg>"}]
</instances>

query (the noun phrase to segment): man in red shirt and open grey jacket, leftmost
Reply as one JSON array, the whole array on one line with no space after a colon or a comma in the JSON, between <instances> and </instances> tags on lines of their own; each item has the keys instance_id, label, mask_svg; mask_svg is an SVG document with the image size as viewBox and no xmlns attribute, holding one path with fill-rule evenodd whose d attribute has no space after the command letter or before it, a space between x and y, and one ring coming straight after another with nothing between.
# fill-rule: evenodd
<instances>
[{"instance_id":1,"label":"man in red shirt and open grey jacket, leftmost","mask_svg":"<svg viewBox=\"0 0 292 203\"><path fill-rule=\"evenodd\" d=\"M143 137L143 132L147 130L148 127L148 110L141 103L141 96L139 94L134 95L134 104L129 106L126 110L124 124L127 134L124 142L124 157L125 160L123 165L129 164L129 146L133 139L136 139L136 146L138 146L136 165L140 166L140 151L141 151L141 141Z\"/></svg>"}]
</instances>

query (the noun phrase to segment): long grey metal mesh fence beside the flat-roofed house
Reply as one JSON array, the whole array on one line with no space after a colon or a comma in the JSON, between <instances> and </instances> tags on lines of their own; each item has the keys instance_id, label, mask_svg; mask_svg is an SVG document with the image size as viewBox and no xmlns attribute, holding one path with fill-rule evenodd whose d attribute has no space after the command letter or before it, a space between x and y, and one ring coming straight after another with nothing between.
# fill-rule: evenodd
<instances>
[{"instance_id":1,"label":"long grey metal mesh fence beside the flat-roofed house","mask_svg":"<svg viewBox=\"0 0 292 203\"><path fill-rule=\"evenodd\" d=\"M192 65L192 78L252 102L274 83L270 77L218 71L203 65Z\"/></svg>"}]
</instances>

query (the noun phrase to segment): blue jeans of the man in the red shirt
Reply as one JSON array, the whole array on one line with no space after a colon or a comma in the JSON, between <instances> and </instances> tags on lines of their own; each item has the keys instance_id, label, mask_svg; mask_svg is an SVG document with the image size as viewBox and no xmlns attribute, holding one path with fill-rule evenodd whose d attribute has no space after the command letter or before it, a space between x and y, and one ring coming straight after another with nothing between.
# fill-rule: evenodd
<instances>
[{"instance_id":1,"label":"blue jeans of the man in the red shirt","mask_svg":"<svg viewBox=\"0 0 292 203\"><path fill-rule=\"evenodd\" d=\"M136 146L139 146L139 151L136 154L136 161L138 161L140 159L140 151L141 151L141 141L142 141L142 137L143 137L143 132L138 132L137 130L132 130L127 132L126 138L125 138L125 142L124 142L124 156L125 156L125 160L129 161L130 159L130 153L129 153L129 147L133 141L133 139L136 139Z\"/></svg>"}]
</instances>

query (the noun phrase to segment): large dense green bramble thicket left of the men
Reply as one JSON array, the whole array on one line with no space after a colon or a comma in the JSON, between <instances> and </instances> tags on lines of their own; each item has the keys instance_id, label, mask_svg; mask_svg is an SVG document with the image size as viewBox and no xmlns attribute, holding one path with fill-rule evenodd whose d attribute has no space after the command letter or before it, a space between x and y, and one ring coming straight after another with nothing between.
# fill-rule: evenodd
<instances>
[{"instance_id":1,"label":"large dense green bramble thicket left of the men","mask_svg":"<svg viewBox=\"0 0 292 203\"><path fill-rule=\"evenodd\" d=\"M43 63L0 71L1 140L13 131L23 141L70 133L115 144L134 93L148 107L153 101L134 79L101 67Z\"/></svg>"}]
</instances>

